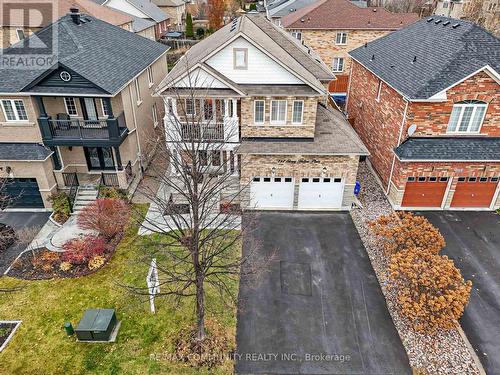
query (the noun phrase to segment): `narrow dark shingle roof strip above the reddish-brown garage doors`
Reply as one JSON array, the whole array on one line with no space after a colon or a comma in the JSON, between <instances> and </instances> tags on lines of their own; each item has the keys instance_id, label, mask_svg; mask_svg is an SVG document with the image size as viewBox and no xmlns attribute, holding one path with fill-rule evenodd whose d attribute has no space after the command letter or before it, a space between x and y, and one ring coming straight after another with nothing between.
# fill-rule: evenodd
<instances>
[{"instance_id":1,"label":"narrow dark shingle roof strip above the reddish-brown garage doors","mask_svg":"<svg viewBox=\"0 0 500 375\"><path fill-rule=\"evenodd\" d=\"M500 160L500 137L415 137L394 152L400 160Z\"/></svg>"}]
</instances>

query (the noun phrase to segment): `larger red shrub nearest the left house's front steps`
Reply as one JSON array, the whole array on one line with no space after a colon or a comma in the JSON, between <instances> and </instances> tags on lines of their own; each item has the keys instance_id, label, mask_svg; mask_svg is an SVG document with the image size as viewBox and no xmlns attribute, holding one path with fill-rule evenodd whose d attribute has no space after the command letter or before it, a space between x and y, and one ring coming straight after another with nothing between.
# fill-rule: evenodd
<instances>
[{"instance_id":1,"label":"larger red shrub nearest the left house's front steps","mask_svg":"<svg viewBox=\"0 0 500 375\"><path fill-rule=\"evenodd\" d=\"M110 239L125 229L130 218L130 206L122 199L104 198L85 207L78 215L78 225L92 229Z\"/></svg>"}]
</instances>

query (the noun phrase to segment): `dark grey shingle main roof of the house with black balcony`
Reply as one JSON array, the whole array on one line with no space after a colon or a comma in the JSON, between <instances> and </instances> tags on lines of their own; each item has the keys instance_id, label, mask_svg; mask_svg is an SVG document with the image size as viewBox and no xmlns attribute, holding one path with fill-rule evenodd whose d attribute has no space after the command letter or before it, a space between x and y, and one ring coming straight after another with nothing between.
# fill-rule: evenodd
<instances>
[{"instance_id":1,"label":"dark grey shingle main roof of the house with black balcony","mask_svg":"<svg viewBox=\"0 0 500 375\"><path fill-rule=\"evenodd\" d=\"M64 16L24 42L3 50L4 58L15 60L33 53L33 49L26 47L31 41L50 46L55 37L57 42L51 67L2 67L0 92L28 92L27 87L34 81L63 66L92 82L103 94L115 95L169 49L97 18L81 17L85 22L77 25L69 15Z\"/></svg>"}]
</instances>

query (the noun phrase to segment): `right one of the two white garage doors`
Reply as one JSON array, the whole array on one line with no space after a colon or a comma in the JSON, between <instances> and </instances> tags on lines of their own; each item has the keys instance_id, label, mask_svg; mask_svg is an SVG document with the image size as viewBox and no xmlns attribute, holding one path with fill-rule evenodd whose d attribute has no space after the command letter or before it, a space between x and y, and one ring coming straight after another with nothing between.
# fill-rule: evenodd
<instances>
[{"instance_id":1,"label":"right one of the two white garage doors","mask_svg":"<svg viewBox=\"0 0 500 375\"><path fill-rule=\"evenodd\" d=\"M341 178L302 178L299 186L300 209L338 209L342 207L344 184Z\"/></svg>"}]
</instances>

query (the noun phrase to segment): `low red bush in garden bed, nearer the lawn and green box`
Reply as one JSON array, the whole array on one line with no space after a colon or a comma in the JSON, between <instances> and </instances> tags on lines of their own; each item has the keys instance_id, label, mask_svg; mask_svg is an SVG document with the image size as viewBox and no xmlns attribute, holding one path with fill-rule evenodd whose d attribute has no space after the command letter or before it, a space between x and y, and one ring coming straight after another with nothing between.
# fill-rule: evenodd
<instances>
[{"instance_id":1,"label":"low red bush in garden bed, nearer the lawn and green box","mask_svg":"<svg viewBox=\"0 0 500 375\"><path fill-rule=\"evenodd\" d=\"M100 236L85 236L66 242L61 261L73 265L86 264L93 257L104 255L109 250L106 239Z\"/></svg>"}]
</instances>

